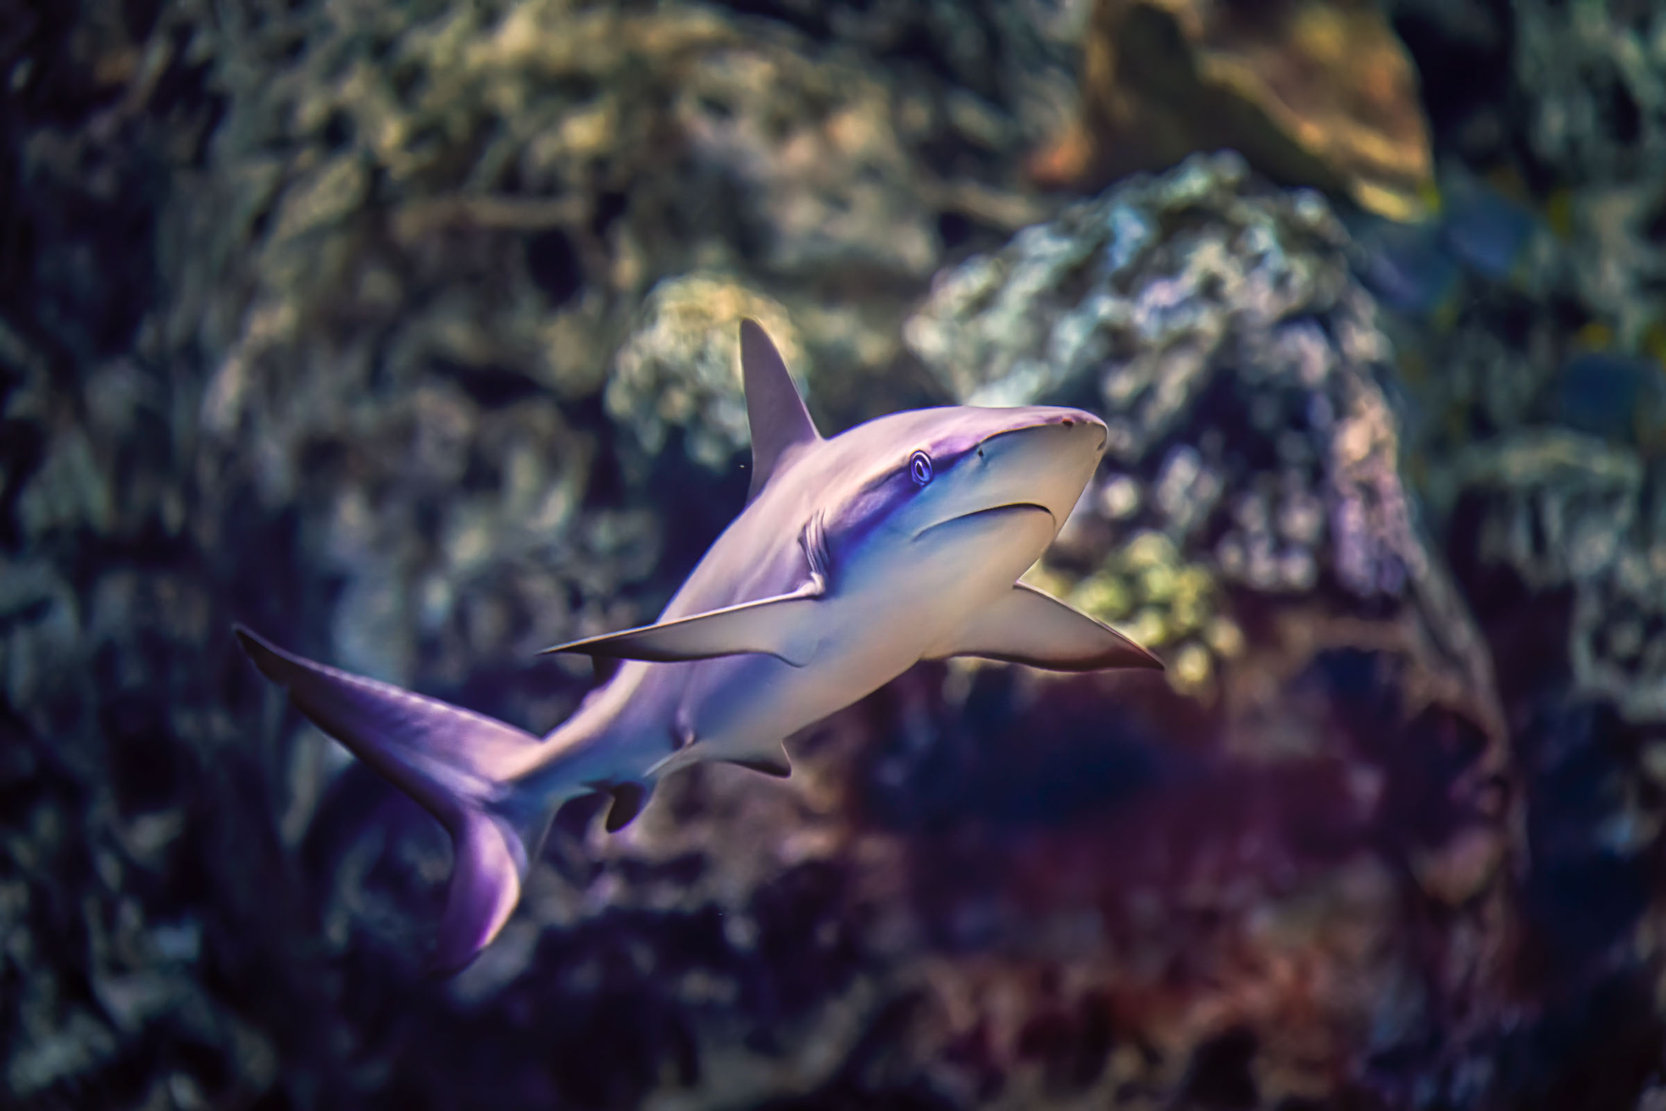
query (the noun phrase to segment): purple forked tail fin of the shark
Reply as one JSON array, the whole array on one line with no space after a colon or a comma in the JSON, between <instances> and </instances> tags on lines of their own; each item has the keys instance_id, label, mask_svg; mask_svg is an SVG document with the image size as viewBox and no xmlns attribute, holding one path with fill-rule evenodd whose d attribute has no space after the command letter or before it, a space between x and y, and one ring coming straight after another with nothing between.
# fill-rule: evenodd
<instances>
[{"instance_id":1,"label":"purple forked tail fin of the shark","mask_svg":"<svg viewBox=\"0 0 1666 1111\"><path fill-rule=\"evenodd\" d=\"M237 640L313 725L451 834L451 884L431 966L451 973L468 964L508 921L555 816L513 788L541 741L436 698L293 656L243 626Z\"/></svg>"}]
</instances>

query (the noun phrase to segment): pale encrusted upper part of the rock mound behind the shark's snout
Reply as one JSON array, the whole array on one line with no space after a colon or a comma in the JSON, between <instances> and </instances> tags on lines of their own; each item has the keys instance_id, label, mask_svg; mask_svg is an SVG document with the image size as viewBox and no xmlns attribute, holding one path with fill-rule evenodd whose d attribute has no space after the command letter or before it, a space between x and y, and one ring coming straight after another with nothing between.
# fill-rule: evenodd
<instances>
[{"instance_id":1,"label":"pale encrusted upper part of the rock mound behind the shark's snout","mask_svg":"<svg viewBox=\"0 0 1666 1111\"><path fill-rule=\"evenodd\" d=\"M1233 655L1235 626L1279 598L1388 608L1421 630L1404 645L1434 686L1498 736L1486 653L1401 478L1393 351L1344 247L1316 195L1195 157L945 272L905 335L963 401L1105 416L1110 466L1050 565L1178 648L1183 675L1206 678L1200 653Z\"/></svg>"}]
</instances>

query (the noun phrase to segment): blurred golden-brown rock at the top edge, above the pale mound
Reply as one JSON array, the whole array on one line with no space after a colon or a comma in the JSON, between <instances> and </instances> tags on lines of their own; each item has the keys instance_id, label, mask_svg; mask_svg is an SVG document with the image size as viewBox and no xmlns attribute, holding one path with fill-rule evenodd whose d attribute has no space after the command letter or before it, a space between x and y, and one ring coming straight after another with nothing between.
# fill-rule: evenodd
<instances>
[{"instance_id":1,"label":"blurred golden-brown rock at the top edge, above the pale mound","mask_svg":"<svg viewBox=\"0 0 1666 1111\"><path fill-rule=\"evenodd\" d=\"M1216 148L1394 220L1434 197L1416 68L1374 0L1096 0L1080 115L1031 177L1093 190Z\"/></svg>"}]
</instances>

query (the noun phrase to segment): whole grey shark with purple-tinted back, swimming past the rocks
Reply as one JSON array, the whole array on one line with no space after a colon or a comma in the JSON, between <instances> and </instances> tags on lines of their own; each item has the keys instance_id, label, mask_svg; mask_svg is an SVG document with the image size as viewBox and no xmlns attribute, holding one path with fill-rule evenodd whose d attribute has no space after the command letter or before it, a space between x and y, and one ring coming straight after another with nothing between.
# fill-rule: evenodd
<instances>
[{"instance_id":1,"label":"whole grey shark with purple-tinted back, swimming past the rocks","mask_svg":"<svg viewBox=\"0 0 1666 1111\"><path fill-rule=\"evenodd\" d=\"M751 491L653 625L546 651L623 660L545 736L237 636L290 701L451 834L431 966L455 971L520 901L555 811L613 796L618 830L703 760L788 775L783 738L921 660L1161 668L1020 583L1105 453L1073 408L910 410L823 438L775 345L740 325Z\"/></svg>"}]
</instances>

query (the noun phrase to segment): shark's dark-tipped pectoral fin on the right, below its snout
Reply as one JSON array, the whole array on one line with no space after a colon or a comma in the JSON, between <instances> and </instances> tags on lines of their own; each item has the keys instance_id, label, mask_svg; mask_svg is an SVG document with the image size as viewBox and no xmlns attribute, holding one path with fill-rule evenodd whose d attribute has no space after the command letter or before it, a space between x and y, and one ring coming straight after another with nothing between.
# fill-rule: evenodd
<instances>
[{"instance_id":1,"label":"shark's dark-tipped pectoral fin on the right, below its snout","mask_svg":"<svg viewBox=\"0 0 1666 1111\"><path fill-rule=\"evenodd\" d=\"M928 658L945 656L981 656L1046 671L1163 670L1161 660L1111 626L1026 583L1016 583L978 613L951 645Z\"/></svg>"}]
</instances>

